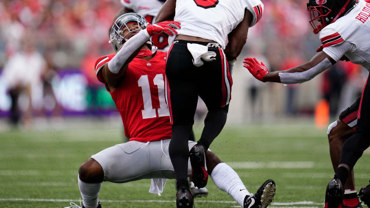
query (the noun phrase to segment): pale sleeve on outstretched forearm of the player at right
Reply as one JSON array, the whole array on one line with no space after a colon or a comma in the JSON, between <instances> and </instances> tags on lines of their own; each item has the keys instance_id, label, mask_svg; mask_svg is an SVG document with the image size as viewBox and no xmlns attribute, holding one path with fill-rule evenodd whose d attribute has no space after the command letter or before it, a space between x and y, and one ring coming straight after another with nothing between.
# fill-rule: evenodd
<instances>
[{"instance_id":1,"label":"pale sleeve on outstretched forearm of the player at right","mask_svg":"<svg viewBox=\"0 0 370 208\"><path fill-rule=\"evenodd\" d=\"M283 84L295 84L295 83L306 82L316 77L316 75L323 72L325 69L329 68L330 66L332 66L332 64L329 61L329 59L326 58L322 62L320 62L318 65L306 71L303 71L303 72L294 72L294 73L280 72L279 73L280 81Z\"/></svg>"}]
</instances>

